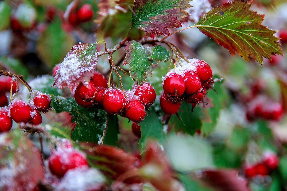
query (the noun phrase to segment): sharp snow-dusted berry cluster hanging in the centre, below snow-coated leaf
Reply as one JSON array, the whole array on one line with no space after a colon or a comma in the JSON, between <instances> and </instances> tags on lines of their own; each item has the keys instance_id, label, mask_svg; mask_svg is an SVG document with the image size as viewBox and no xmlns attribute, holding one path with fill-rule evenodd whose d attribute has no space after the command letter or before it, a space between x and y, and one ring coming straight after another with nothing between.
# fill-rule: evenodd
<instances>
[{"instance_id":1,"label":"sharp snow-dusted berry cluster hanging in the centre, below snow-coated leaf","mask_svg":"<svg viewBox=\"0 0 287 191\"><path fill-rule=\"evenodd\" d=\"M144 82L131 91L109 88L106 78L96 72L84 85L80 83L75 90L75 101L84 107L104 108L109 114L120 114L134 122L141 122L146 115L145 108L156 99L156 93L150 83Z\"/></svg>"}]
</instances>

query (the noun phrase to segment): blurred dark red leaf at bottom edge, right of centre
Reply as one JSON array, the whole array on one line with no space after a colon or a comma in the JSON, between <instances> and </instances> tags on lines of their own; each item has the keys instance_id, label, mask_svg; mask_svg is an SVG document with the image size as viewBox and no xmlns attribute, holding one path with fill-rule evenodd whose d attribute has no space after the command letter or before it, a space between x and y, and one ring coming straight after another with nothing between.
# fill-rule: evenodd
<instances>
[{"instance_id":1,"label":"blurred dark red leaf at bottom edge, right of centre","mask_svg":"<svg viewBox=\"0 0 287 191\"><path fill-rule=\"evenodd\" d=\"M220 191L250 191L248 181L236 170L206 170L202 172L201 180Z\"/></svg>"}]
</instances>

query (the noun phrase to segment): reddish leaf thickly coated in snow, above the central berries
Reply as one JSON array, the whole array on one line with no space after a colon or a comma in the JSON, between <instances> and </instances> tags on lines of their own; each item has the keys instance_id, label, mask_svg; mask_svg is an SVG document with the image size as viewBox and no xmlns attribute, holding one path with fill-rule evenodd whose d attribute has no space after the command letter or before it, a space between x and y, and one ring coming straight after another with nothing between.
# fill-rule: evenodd
<instances>
[{"instance_id":1,"label":"reddish leaf thickly coated in snow, above the central berries","mask_svg":"<svg viewBox=\"0 0 287 191\"><path fill-rule=\"evenodd\" d=\"M90 81L96 72L97 62L95 44L74 45L59 65L53 86L60 89L67 86L74 92L80 82L87 84Z\"/></svg>"}]
</instances>

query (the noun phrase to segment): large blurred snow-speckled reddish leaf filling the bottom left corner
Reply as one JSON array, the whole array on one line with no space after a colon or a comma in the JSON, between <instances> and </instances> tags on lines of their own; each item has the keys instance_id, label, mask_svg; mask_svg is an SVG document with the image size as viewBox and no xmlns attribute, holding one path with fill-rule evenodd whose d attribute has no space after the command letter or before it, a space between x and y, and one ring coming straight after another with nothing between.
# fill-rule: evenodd
<instances>
[{"instance_id":1,"label":"large blurred snow-speckled reddish leaf filling the bottom left corner","mask_svg":"<svg viewBox=\"0 0 287 191\"><path fill-rule=\"evenodd\" d=\"M38 149L19 128L1 134L0 140L0 190L34 190L44 178Z\"/></svg>"}]
</instances>

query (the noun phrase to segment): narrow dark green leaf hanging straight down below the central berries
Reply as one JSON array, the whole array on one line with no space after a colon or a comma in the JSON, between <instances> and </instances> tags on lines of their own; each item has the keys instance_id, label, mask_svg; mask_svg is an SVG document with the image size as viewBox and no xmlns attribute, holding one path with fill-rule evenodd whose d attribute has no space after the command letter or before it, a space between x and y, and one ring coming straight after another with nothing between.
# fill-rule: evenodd
<instances>
[{"instance_id":1,"label":"narrow dark green leaf hanging straight down below the central berries","mask_svg":"<svg viewBox=\"0 0 287 191\"><path fill-rule=\"evenodd\" d=\"M119 122L117 115L107 114L103 144L118 146Z\"/></svg>"}]
</instances>

